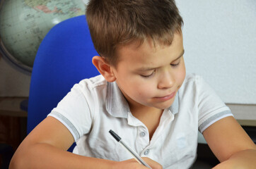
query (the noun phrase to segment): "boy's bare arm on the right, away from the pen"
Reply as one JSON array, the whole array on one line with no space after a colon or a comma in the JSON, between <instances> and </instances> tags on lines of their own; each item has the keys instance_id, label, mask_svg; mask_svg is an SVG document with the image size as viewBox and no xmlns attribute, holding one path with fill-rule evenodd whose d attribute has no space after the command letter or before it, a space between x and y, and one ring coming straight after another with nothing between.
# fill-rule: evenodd
<instances>
[{"instance_id":1,"label":"boy's bare arm on the right, away from the pen","mask_svg":"<svg viewBox=\"0 0 256 169\"><path fill-rule=\"evenodd\" d=\"M223 118L203 132L221 168L255 168L256 146L232 116ZM215 169L214 168L214 169Z\"/></svg>"}]
</instances>

